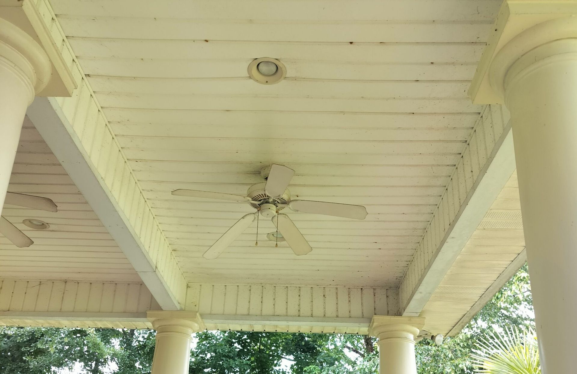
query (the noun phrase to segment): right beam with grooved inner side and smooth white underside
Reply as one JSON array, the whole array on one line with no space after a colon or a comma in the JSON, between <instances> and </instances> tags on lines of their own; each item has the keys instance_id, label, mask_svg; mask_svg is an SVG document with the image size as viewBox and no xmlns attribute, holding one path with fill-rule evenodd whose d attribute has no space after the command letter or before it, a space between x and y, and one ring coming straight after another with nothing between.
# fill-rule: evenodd
<instances>
[{"instance_id":1,"label":"right beam with grooved inner side and smooth white underside","mask_svg":"<svg viewBox=\"0 0 577 374\"><path fill-rule=\"evenodd\" d=\"M418 316L515 171L511 126L488 106L399 287L403 316Z\"/></svg>"}]
</instances>

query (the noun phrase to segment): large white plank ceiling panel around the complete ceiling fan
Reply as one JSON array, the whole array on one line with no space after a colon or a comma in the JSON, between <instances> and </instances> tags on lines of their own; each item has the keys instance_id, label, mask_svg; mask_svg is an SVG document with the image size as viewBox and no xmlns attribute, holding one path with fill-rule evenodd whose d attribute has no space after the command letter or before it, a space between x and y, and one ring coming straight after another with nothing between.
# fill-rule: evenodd
<instances>
[{"instance_id":1,"label":"large white plank ceiling panel around the complete ceiling fan","mask_svg":"<svg viewBox=\"0 0 577 374\"><path fill-rule=\"evenodd\" d=\"M467 98L499 0L54 1L96 98L190 282L397 286L478 118ZM379 20L379 21L376 21ZM287 77L250 80L254 58ZM301 199L362 204L364 221L290 212L295 257L261 219L201 257L261 167Z\"/></svg>"}]
</instances>

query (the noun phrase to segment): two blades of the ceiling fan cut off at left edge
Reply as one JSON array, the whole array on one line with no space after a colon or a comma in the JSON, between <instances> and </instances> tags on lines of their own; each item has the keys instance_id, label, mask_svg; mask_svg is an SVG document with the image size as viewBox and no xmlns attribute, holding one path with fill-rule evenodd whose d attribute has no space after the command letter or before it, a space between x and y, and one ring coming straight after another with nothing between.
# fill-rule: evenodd
<instances>
[{"instance_id":1,"label":"two blades of the ceiling fan cut off at left edge","mask_svg":"<svg viewBox=\"0 0 577 374\"><path fill-rule=\"evenodd\" d=\"M23 193L6 192L5 204L18 205L18 207L32 208L48 212L57 212L58 207L54 201L47 197L24 195ZM9 241L17 247L23 248L34 244L31 238L27 237L22 231L10 221L0 216L0 234L4 235Z\"/></svg>"}]
</instances>

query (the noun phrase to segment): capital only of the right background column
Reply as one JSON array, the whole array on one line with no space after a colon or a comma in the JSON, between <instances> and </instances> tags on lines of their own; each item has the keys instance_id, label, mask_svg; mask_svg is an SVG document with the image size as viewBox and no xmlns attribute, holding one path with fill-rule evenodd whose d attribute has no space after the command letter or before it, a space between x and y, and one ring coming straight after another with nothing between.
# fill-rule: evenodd
<instances>
[{"instance_id":1,"label":"capital only of the right background column","mask_svg":"<svg viewBox=\"0 0 577 374\"><path fill-rule=\"evenodd\" d=\"M424 317L373 316L369 335L376 338L407 338L414 341L419 330L425 326Z\"/></svg>"}]
</instances>

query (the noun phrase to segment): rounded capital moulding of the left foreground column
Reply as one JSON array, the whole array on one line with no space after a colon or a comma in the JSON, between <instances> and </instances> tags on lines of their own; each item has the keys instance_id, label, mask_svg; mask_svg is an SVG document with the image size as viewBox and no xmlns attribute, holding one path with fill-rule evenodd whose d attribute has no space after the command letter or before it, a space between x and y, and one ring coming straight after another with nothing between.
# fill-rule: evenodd
<instances>
[{"instance_id":1,"label":"rounded capital moulding of the left foreground column","mask_svg":"<svg viewBox=\"0 0 577 374\"><path fill-rule=\"evenodd\" d=\"M28 33L0 18L0 64L27 87L28 104L51 78L48 55Z\"/></svg>"}]
</instances>

